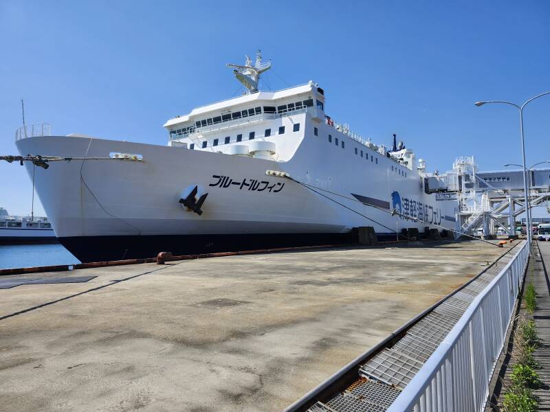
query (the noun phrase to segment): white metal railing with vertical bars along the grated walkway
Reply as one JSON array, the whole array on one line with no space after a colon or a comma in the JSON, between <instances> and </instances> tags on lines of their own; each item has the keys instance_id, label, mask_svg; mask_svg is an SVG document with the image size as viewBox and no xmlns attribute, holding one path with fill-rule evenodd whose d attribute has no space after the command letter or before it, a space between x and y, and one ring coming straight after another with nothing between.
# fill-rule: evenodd
<instances>
[{"instance_id":1,"label":"white metal railing with vertical bars along the grated walkway","mask_svg":"<svg viewBox=\"0 0 550 412\"><path fill-rule=\"evenodd\" d=\"M388 412L484 409L528 258L525 242L472 301Z\"/></svg>"}]
</instances>

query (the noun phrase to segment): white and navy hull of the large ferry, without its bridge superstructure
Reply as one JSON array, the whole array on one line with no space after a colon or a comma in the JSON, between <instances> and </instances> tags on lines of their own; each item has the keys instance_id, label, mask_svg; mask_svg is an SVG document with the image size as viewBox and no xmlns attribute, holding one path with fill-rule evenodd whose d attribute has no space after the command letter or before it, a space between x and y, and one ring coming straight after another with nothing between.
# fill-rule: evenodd
<instances>
[{"instance_id":1,"label":"white and navy hull of the large ferry, without its bridge superstructure","mask_svg":"<svg viewBox=\"0 0 550 412\"><path fill-rule=\"evenodd\" d=\"M17 146L25 155L142 156L142 161L74 159L35 168L36 192L56 236L83 262L151 258L160 251L184 255L346 243L360 226L391 238L409 227L423 232L430 223L454 227L444 218L454 214L454 202L436 203L434 195L423 194L417 175L388 177L394 161L380 157L366 163L308 135L312 130L305 128L286 162L88 137L29 137ZM26 168L32 175L32 164ZM359 168L365 171L358 173ZM267 170L287 172L344 197L267 175ZM192 187L199 190L197 198L208 193L202 214L179 203ZM426 207L423 221L388 213L396 207L396 193ZM365 199L377 207L365 205Z\"/></svg>"}]
</instances>

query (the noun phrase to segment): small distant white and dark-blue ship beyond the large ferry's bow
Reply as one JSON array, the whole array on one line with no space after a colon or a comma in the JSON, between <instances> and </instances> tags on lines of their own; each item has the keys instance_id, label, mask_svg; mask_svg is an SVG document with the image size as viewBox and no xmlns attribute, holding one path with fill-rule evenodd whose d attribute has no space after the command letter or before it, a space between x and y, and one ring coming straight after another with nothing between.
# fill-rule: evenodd
<instances>
[{"instance_id":1,"label":"small distant white and dark-blue ship beyond the large ferry's bow","mask_svg":"<svg viewBox=\"0 0 550 412\"><path fill-rule=\"evenodd\" d=\"M10 216L0 207L0 244L53 242L56 242L56 235L47 218Z\"/></svg>"}]
</instances>

